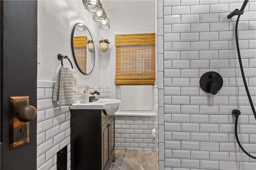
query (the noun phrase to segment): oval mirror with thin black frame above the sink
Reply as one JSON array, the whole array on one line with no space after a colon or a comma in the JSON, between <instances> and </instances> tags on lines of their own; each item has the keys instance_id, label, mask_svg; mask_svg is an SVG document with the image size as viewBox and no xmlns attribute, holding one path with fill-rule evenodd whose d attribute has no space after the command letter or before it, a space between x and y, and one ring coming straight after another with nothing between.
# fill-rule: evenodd
<instances>
[{"instance_id":1,"label":"oval mirror with thin black frame above the sink","mask_svg":"<svg viewBox=\"0 0 256 170\"><path fill-rule=\"evenodd\" d=\"M92 35L83 23L76 23L72 29L71 49L80 72L90 74L94 68L95 50Z\"/></svg>"}]
</instances>

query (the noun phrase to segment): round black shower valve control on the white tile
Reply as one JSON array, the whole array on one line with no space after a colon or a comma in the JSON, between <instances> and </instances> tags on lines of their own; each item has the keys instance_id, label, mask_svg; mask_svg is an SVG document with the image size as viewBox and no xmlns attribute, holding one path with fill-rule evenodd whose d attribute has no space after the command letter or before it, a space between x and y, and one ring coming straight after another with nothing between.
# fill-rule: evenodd
<instances>
[{"instance_id":1,"label":"round black shower valve control on the white tile","mask_svg":"<svg viewBox=\"0 0 256 170\"><path fill-rule=\"evenodd\" d=\"M206 72L200 78L200 87L202 90L213 95L218 93L222 85L223 79L218 72Z\"/></svg>"}]
</instances>

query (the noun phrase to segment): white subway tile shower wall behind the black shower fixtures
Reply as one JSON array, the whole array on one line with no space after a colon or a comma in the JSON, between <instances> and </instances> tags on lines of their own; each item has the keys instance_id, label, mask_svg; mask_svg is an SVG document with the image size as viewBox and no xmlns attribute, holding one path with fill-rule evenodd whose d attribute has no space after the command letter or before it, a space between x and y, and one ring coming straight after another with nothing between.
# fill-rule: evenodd
<instances>
[{"instance_id":1,"label":"white subway tile shower wall behind the black shower fixtures","mask_svg":"<svg viewBox=\"0 0 256 170\"><path fill-rule=\"evenodd\" d=\"M256 121L242 82L235 45L235 21L227 15L243 0L158 0L158 157L160 170L255 170L238 136L256 155ZM239 43L244 72L256 104L256 1L240 17ZM208 71L223 77L211 95L199 86Z\"/></svg>"}]
</instances>

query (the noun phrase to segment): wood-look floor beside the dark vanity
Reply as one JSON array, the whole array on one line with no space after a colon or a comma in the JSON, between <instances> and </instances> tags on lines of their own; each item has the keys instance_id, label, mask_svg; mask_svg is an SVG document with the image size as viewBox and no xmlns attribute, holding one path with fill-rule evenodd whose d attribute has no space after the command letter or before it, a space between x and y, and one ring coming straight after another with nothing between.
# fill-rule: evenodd
<instances>
[{"instance_id":1,"label":"wood-look floor beside the dark vanity","mask_svg":"<svg viewBox=\"0 0 256 170\"><path fill-rule=\"evenodd\" d=\"M116 149L116 160L109 170L157 170L156 152Z\"/></svg>"}]
</instances>

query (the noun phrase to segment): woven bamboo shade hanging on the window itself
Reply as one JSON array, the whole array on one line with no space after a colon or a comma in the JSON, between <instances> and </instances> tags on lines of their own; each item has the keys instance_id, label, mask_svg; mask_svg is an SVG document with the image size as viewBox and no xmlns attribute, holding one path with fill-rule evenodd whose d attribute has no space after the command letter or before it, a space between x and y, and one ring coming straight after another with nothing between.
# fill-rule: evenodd
<instances>
[{"instance_id":1,"label":"woven bamboo shade hanging on the window itself","mask_svg":"<svg viewBox=\"0 0 256 170\"><path fill-rule=\"evenodd\" d=\"M155 33L116 35L116 85L154 85Z\"/></svg>"}]
</instances>

